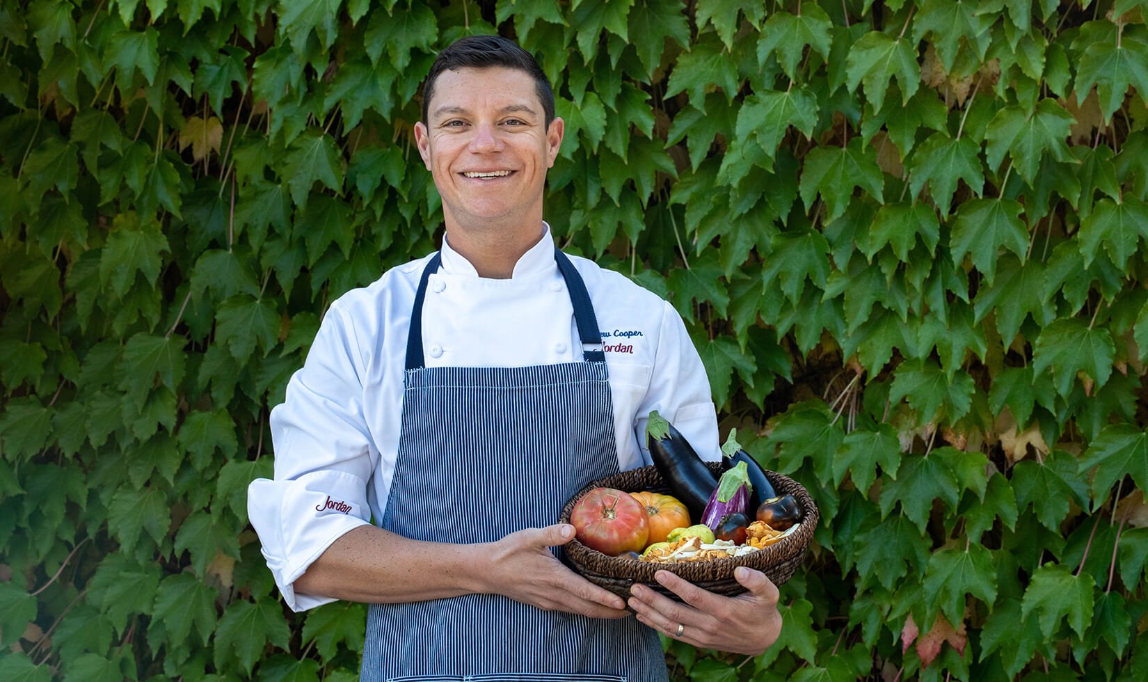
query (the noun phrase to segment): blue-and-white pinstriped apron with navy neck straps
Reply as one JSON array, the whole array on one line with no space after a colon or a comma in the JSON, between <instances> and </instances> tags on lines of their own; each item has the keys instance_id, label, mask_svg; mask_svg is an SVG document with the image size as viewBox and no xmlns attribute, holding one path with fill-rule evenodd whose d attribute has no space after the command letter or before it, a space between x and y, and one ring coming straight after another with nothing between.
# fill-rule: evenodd
<instances>
[{"instance_id":1,"label":"blue-and-white pinstriped apron with navy neck straps","mask_svg":"<svg viewBox=\"0 0 1148 682\"><path fill-rule=\"evenodd\" d=\"M602 335L582 278L554 249L584 362L426 367L419 281L402 431L381 527L414 540L491 542L557 521L585 483L618 472ZM360 679L667 680L654 631L633 617L591 619L498 595L372 604Z\"/></svg>"}]
</instances>

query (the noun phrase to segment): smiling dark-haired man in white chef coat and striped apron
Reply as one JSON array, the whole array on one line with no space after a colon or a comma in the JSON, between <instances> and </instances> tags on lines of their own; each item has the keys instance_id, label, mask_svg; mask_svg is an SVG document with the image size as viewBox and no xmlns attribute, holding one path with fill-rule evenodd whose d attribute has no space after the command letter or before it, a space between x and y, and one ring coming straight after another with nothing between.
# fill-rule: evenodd
<instances>
[{"instance_id":1,"label":"smiling dark-haired man in white chef coat and striped apron","mask_svg":"<svg viewBox=\"0 0 1148 682\"><path fill-rule=\"evenodd\" d=\"M738 597L661 572L684 604L641 587L623 602L550 549L573 538L553 521L575 491L649 463L651 410L720 456L674 309L553 247L563 125L513 42L444 49L414 126L442 250L336 301L272 412L276 479L251 483L251 522L293 609L371 604L364 680L666 680L657 631L759 653L781 629L759 572L739 569Z\"/></svg>"}]
</instances>

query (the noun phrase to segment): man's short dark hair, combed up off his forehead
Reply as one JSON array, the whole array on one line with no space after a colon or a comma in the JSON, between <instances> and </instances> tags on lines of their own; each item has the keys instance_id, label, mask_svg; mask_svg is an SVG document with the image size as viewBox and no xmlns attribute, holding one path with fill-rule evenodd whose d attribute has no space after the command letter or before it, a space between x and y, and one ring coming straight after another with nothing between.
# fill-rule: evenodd
<instances>
[{"instance_id":1,"label":"man's short dark hair, combed up off his forehead","mask_svg":"<svg viewBox=\"0 0 1148 682\"><path fill-rule=\"evenodd\" d=\"M550 87L550 79L538 65L534 55L519 47L513 40L507 40L501 36L467 36L459 38L449 47L439 53L427 79L422 83L422 123L428 123L430 98L434 95L434 84L439 76L447 70L465 69L489 69L503 67L506 69L518 69L525 71L534 78L534 90L542 102L542 110L545 114L546 127L554 119L554 92Z\"/></svg>"}]
</instances>

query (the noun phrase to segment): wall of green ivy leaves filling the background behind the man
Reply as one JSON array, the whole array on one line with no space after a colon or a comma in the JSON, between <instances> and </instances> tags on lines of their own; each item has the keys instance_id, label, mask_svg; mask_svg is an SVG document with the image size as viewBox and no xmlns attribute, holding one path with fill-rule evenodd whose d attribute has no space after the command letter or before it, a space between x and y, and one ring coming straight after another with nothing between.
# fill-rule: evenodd
<instances>
[{"instance_id":1,"label":"wall of green ivy leaves filling the background behind the man","mask_svg":"<svg viewBox=\"0 0 1148 682\"><path fill-rule=\"evenodd\" d=\"M1142 0L0 0L0 679L349 680L247 525L326 305L434 248L434 53L567 121L548 218L667 295L823 524L693 680L1148 677Z\"/></svg>"}]
</instances>

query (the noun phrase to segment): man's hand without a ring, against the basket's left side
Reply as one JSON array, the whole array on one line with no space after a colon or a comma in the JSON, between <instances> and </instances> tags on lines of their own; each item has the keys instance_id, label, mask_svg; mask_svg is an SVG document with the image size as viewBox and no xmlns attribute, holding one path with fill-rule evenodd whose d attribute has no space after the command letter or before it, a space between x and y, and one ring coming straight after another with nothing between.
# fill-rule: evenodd
<instances>
[{"instance_id":1,"label":"man's hand without a ring, against the basket's left side","mask_svg":"<svg viewBox=\"0 0 1148 682\"><path fill-rule=\"evenodd\" d=\"M525 528L488 545L486 591L543 609L591 618L625 618L626 602L574 573L548 548L574 540L574 527Z\"/></svg>"}]
</instances>

